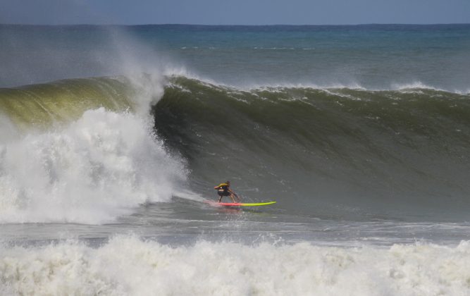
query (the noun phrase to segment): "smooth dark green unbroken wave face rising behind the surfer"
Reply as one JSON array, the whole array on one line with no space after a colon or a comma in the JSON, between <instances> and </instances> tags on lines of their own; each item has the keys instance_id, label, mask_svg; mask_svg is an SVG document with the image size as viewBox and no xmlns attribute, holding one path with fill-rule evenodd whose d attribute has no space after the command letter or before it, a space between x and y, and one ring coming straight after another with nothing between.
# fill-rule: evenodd
<instances>
[{"instance_id":1,"label":"smooth dark green unbroken wave face rising behind the surfer","mask_svg":"<svg viewBox=\"0 0 470 296\"><path fill-rule=\"evenodd\" d=\"M469 208L469 99L422 88L240 90L180 77L153 112L200 192L228 178L253 199L306 214L454 216Z\"/></svg>"}]
</instances>

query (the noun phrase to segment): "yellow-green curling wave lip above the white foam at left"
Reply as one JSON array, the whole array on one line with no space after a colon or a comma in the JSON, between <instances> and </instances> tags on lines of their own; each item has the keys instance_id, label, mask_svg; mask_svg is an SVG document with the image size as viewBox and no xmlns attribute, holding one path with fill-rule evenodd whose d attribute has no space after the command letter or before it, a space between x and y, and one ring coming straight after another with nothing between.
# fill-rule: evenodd
<instances>
[{"instance_id":1,"label":"yellow-green curling wave lip above the white foam at left","mask_svg":"<svg viewBox=\"0 0 470 296\"><path fill-rule=\"evenodd\" d=\"M20 130L47 129L80 118L89 109L134 109L135 89L128 79L79 78L39 85L0 88L0 113Z\"/></svg>"}]
</instances>

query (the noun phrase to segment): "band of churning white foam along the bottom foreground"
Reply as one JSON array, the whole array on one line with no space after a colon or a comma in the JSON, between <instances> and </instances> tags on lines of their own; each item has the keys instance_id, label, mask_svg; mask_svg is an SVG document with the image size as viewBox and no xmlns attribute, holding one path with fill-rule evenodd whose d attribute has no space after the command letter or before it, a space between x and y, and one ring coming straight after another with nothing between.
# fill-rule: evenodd
<instances>
[{"instance_id":1,"label":"band of churning white foam along the bottom foreground","mask_svg":"<svg viewBox=\"0 0 470 296\"><path fill-rule=\"evenodd\" d=\"M470 244L0 247L3 295L469 295Z\"/></svg>"}]
</instances>

